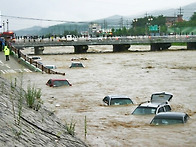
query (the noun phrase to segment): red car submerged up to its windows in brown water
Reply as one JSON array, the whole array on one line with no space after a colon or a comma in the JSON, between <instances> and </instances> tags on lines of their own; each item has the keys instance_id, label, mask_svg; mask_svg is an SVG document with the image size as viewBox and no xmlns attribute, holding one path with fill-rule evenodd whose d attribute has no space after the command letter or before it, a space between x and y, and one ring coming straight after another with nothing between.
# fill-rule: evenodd
<instances>
[{"instance_id":1,"label":"red car submerged up to its windows in brown water","mask_svg":"<svg viewBox=\"0 0 196 147\"><path fill-rule=\"evenodd\" d=\"M49 79L46 85L50 87L72 86L66 79Z\"/></svg>"}]
</instances>

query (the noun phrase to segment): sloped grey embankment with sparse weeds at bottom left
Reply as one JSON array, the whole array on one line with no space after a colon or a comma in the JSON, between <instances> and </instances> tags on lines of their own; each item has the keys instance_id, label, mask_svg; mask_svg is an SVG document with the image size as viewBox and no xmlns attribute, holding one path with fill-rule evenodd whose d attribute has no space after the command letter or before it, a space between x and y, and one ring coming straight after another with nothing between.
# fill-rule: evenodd
<instances>
[{"instance_id":1,"label":"sloped grey embankment with sparse weeds at bottom left","mask_svg":"<svg viewBox=\"0 0 196 147\"><path fill-rule=\"evenodd\" d=\"M18 83L15 83L15 85ZM11 88L12 87L12 88ZM27 107L24 91L0 77L0 146L1 147L86 147L71 136L60 120L41 107Z\"/></svg>"}]
</instances>

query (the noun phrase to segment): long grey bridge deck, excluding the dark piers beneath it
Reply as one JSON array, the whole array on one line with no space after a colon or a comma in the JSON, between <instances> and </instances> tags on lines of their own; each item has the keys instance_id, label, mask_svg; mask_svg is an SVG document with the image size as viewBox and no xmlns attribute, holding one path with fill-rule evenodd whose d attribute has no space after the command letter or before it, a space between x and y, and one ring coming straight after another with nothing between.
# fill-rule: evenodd
<instances>
[{"instance_id":1,"label":"long grey bridge deck, excluding the dark piers beneath it","mask_svg":"<svg viewBox=\"0 0 196 147\"><path fill-rule=\"evenodd\" d=\"M78 46L78 45L116 45L116 44L151 44L151 43L187 43L196 42L196 36L152 36L152 37L120 37L91 41L77 40L59 42L58 40L16 40L15 47L38 46Z\"/></svg>"}]
</instances>

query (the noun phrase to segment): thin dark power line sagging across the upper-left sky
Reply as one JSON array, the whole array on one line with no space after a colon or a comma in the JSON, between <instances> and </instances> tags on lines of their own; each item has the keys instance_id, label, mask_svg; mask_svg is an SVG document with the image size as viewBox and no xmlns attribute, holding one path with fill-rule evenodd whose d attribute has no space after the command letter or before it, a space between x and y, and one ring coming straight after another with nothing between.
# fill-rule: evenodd
<instances>
[{"instance_id":1,"label":"thin dark power line sagging across the upper-left sky","mask_svg":"<svg viewBox=\"0 0 196 147\"><path fill-rule=\"evenodd\" d=\"M35 21L50 21L50 22L64 22L64 23L86 23L86 22L75 22L75 21L66 21L66 20L53 20L53 19L41 19L41 18L32 18L32 17L20 17L20 16L9 16L9 15L0 15L1 17L9 17L16 19L26 19L26 20L35 20Z\"/></svg>"}]
</instances>

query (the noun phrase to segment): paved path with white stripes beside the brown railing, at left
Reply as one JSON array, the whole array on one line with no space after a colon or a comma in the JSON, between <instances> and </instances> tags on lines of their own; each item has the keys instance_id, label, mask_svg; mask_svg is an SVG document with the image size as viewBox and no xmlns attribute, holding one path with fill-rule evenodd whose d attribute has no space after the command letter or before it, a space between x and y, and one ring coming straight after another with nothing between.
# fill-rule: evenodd
<instances>
[{"instance_id":1,"label":"paved path with white stripes beside the brown railing, at left","mask_svg":"<svg viewBox=\"0 0 196 147\"><path fill-rule=\"evenodd\" d=\"M0 74L21 73L21 72L32 72L32 71L19 64L12 56L10 56L9 61L6 61L4 52L0 52Z\"/></svg>"}]
</instances>

